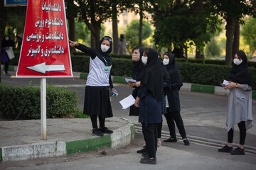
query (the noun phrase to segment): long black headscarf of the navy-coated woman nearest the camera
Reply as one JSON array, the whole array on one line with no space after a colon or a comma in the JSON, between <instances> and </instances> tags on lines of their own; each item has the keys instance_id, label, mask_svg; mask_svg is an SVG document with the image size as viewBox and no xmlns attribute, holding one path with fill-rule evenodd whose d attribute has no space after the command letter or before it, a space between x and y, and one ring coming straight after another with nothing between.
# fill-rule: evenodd
<instances>
[{"instance_id":1,"label":"long black headscarf of the navy-coated woman nearest the camera","mask_svg":"<svg viewBox=\"0 0 256 170\"><path fill-rule=\"evenodd\" d=\"M156 101L161 101L164 92L161 62L159 61L156 50L149 48L144 52L146 52L148 59L142 77L142 85L146 85Z\"/></svg>"}]
</instances>

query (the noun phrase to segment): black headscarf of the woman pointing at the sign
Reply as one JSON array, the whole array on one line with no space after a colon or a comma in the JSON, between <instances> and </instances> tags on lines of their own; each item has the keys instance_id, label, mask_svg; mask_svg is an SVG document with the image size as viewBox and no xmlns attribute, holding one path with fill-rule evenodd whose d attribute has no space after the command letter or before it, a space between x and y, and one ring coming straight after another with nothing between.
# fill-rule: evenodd
<instances>
[{"instance_id":1,"label":"black headscarf of the woman pointing at the sign","mask_svg":"<svg viewBox=\"0 0 256 170\"><path fill-rule=\"evenodd\" d=\"M104 40L108 40L108 41L110 41L110 49L109 50L107 50L106 52L102 52L102 50L101 50L101 44L102 44L102 42L104 41ZM96 50L96 55L97 55L97 57L100 59L100 60L102 60L102 62L104 62L105 63L105 65L107 65L107 66L111 66L112 65L112 58L110 57L110 53L112 52L112 38L110 38L109 36L104 36L101 40L100 40L100 45L99 45L99 47L97 48L97 50ZM106 61L107 61L107 63L106 63Z\"/></svg>"}]
</instances>

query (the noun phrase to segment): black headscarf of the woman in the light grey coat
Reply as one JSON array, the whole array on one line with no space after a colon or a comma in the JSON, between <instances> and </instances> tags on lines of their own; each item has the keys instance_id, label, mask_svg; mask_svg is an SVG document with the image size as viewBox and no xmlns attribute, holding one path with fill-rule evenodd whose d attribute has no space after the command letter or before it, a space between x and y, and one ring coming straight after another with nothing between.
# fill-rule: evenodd
<instances>
[{"instance_id":1,"label":"black headscarf of the woman in the light grey coat","mask_svg":"<svg viewBox=\"0 0 256 170\"><path fill-rule=\"evenodd\" d=\"M231 68L228 80L235 83L248 84L249 86L252 86L252 77L249 73L247 56L245 55L245 52L240 50L235 52L235 54L238 55L240 59L242 59L242 63L239 65L233 63L233 67Z\"/></svg>"}]
</instances>

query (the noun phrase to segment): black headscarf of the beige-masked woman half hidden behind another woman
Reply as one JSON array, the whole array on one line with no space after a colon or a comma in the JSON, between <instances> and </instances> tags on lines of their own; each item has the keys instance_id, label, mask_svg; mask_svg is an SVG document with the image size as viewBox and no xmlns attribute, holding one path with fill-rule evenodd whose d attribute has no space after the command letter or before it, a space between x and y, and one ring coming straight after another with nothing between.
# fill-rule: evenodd
<instances>
[{"instance_id":1,"label":"black headscarf of the beige-masked woman half hidden behind another woman","mask_svg":"<svg viewBox=\"0 0 256 170\"><path fill-rule=\"evenodd\" d=\"M142 55L143 55L143 48L142 47L135 47L134 50L139 50L139 61L132 62L132 79L136 81L140 81L142 78L144 64L142 63ZM134 51L132 50L132 52Z\"/></svg>"}]
</instances>

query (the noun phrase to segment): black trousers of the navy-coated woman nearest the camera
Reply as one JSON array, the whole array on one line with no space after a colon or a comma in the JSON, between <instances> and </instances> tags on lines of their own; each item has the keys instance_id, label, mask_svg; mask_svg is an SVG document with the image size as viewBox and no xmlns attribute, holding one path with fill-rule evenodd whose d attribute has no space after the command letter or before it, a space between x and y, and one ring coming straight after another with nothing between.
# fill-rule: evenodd
<instances>
[{"instance_id":1,"label":"black trousers of the navy-coated woman nearest the camera","mask_svg":"<svg viewBox=\"0 0 256 170\"><path fill-rule=\"evenodd\" d=\"M146 152L149 158L156 157L157 150L157 123L142 123L142 133L146 142Z\"/></svg>"}]
</instances>

